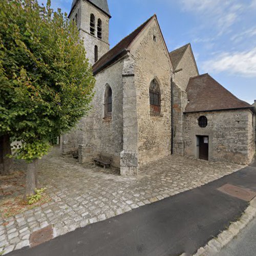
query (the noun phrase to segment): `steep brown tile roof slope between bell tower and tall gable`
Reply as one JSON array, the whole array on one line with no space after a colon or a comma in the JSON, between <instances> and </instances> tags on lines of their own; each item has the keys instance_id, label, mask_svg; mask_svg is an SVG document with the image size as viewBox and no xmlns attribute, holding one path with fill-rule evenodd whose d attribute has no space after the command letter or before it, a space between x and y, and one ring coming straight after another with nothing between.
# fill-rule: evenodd
<instances>
[{"instance_id":1,"label":"steep brown tile roof slope between bell tower and tall gable","mask_svg":"<svg viewBox=\"0 0 256 256\"><path fill-rule=\"evenodd\" d=\"M146 25L151 21L152 17L146 20L142 25L140 25L136 30L134 30L130 35L124 37L115 47L110 51L105 53L94 65L93 74L97 74L106 66L110 65L113 61L117 60L119 57L123 56L127 52L127 48L132 44L133 40L139 35L139 33L146 27Z\"/></svg>"}]
</instances>

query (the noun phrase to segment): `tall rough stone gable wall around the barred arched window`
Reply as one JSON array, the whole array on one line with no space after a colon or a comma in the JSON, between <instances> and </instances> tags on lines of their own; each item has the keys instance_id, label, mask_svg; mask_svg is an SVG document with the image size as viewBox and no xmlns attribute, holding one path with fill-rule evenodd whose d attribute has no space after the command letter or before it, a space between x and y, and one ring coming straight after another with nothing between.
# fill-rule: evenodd
<instances>
[{"instance_id":1,"label":"tall rough stone gable wall around the barred arched window","mask_svg":"<svg viewBox=\"0 0 256 256\"><path fill-rule=\"evenodd\" d=\"M170 64L156 23L143 32L135 60L135 86L138 116L139 165L170 154ZM153 40L156 36L156 41ZM136 46L134 46L136 47ZM149 87L153 79L161 90L161 116L150 115Z\"/></svg>"}]
</instances>

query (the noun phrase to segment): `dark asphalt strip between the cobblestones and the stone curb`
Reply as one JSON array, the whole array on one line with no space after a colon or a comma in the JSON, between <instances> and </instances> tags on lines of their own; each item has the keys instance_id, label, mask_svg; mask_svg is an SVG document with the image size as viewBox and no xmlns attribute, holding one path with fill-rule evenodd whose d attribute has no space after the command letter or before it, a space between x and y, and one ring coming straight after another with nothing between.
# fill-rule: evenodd
<instances>
[{"instance_id":1,"label":"dark asphalt strip between the cobblestones and the stone curb","mask_svg":"<svg viewBox=\"0 0 256 256\"><path fill-rule=\"evenodd\" d=\"M236 221L247 202L223 194L229 183L256 191L256 168L237 173L123 215L76 229L34 248L8 255L180 255L193 254ZM245 255L245 254L240 254ZM255 255L255 254L254 254Z\"/></svg>"}]
</instances>

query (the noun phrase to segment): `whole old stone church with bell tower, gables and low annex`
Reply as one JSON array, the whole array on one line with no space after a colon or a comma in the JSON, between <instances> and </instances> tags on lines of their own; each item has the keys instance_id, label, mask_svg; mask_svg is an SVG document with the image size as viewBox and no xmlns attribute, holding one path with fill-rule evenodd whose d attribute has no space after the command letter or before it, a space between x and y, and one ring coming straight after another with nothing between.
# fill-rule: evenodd
<instances>
[{"instance_id":1,"label":"whole old stone church with bell tower, gables and low annex","mask_svg":"<svg viewBox=\"0 0 256 256\"><path fill-rule=\"evenodd\" d=\"M79 163L108 157L121 175L170 154L251 162L255 109L200 75L190 44L169 52L156 15L112 49L107 0L73 0L69 18L96 83L90 113L62 136L64 154L78 150Z\"/></svg>"}]
</instances>

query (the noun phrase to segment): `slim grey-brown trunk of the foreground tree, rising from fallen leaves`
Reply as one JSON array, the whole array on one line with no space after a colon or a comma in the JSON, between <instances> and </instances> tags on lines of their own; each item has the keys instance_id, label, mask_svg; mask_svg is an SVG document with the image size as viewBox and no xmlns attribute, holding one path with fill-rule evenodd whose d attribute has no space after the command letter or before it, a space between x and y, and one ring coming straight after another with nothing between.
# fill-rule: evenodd
<instances>
[{"instance_id":1,"label":"slim grey-brown trunk of the foreground tree, rising from fallen leaves","mask_svg":"<svg viewBox=\"0 0 256 256\"><path fill-rule=\"evenodd\" d=\"M25 199L27 199L28 196L35 195L37 186L37 163L38 159L35 159L32 163L28 164Z\"/></svg>"}]
</instances>

